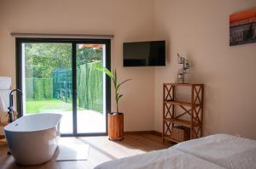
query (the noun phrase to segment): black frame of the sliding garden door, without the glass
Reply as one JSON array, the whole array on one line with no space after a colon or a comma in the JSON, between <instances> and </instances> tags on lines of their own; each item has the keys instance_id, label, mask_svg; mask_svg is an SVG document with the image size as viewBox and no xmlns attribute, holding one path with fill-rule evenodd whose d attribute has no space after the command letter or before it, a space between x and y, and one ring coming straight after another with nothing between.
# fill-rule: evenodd
<instances>
[{"instance_id":1,"label":"black frame of the sliding garden door, without the glass","mask_svg":"<svg viewBox=\"0 0 256 169\"><path fill-rule=\"evenodd\" d=\"M77 130L77 71L76 71L76 44L105 44L106 58L105 65L111 70L111 40L110 39L87 39L87 38L33 38L33 37L16 37L16 87L22 90L22 47L24 42L52 42L52 43L71 43L72 44L72 72L73 72L73 133L61 134L64 137L71 136L102 136L108 135L108 113L111 112L111 81L108 76L105 78L106 84L106 132L78 133ZM17 95L17 110L19 117L23 116L23 97Z\"/></svg>"}]
</instances>

